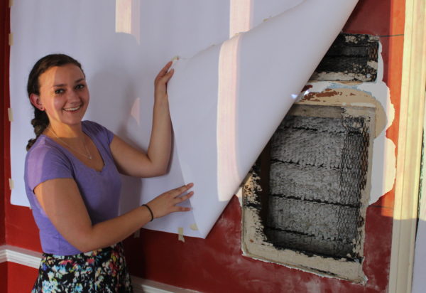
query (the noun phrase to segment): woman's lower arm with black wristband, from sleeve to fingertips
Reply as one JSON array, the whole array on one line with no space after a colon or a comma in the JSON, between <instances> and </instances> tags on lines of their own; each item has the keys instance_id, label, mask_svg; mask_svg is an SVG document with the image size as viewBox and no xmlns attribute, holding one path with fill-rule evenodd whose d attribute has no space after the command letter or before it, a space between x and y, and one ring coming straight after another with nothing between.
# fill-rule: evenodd
<instances>
[{"instance_id":1,"label":"woman's lower arm with black wristband, from sleeve to fingertips","mask_svg":"<svg viewBox=\"0 0 426 293\"><path fill-rule=\"evenodd\" d=\"M178 211L190 211L190 208L176 205L192 196L192 191L181 196L191 187L192 184L187 184L175 188L147 203L154 218ZM140 206L117 218L92 225L77 183L73 179L45 181L34 188L34 193L63 238L82 252L118 243L151 220L148 208Z\"/></svg>"}]
</instances>

